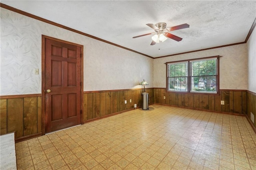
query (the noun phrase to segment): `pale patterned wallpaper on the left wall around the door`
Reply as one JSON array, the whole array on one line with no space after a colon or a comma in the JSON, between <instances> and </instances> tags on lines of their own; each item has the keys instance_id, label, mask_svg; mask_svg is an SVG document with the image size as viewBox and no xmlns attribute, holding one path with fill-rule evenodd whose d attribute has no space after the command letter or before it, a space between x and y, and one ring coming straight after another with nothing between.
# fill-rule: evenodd
<instances>
[{"instance_id":1,"label":"pale patterned wallpaper on the left wall around the door","mask_svg":"<svg viewBox=\"0 0 256 170\"><path fill-rule=\"evenodd\" d=\"M153 87L153 59L1 8L0 95L41 93L42 35L84 45L84 91ZM39 68L39 75L33 69Z\"/></svg>"}]
</instances>

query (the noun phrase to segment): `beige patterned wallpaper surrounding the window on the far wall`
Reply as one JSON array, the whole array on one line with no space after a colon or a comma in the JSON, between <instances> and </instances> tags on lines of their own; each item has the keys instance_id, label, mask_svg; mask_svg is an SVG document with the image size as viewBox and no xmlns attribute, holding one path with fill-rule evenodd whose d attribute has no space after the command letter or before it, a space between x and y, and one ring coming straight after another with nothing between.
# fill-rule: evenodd
<instances>
[{"instance_id":1,"label":"beige patterned wallpaper surrounding the window on the far wall","mask_svg":"<svg viewBox=\"0 0 256 170\"><path fill-rule=\"evenodd\" d=\"M154 87L166 87L166 65L170 61L221 55L220 89L247 89L246 44L209 49L194 53L154 59Z\"/></svg>"}]
</instances>

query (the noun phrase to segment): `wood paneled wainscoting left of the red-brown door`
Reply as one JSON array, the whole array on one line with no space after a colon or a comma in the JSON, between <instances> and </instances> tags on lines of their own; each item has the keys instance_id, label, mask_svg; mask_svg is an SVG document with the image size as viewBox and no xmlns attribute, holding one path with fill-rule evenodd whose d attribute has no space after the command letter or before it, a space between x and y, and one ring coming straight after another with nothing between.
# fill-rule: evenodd
<instances>
[{"instance_id":1,"label":"wood paneled wainscoting left of the red-brown door","mask_svg":"<svg viewBox=\"0 0 256 170\"><path fill-rule=\"evenodd\" d=\"M15 132L15 141L42 135L41 94L0 98L0 134Z\"/></svg>"}]
</instances>

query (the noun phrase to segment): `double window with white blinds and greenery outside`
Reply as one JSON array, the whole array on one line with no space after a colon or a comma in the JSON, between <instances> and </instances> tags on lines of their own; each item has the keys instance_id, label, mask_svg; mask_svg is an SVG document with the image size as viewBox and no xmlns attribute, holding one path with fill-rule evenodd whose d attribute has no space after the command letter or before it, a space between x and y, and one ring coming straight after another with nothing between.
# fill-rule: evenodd
<instances>
[{"instance_id":1,"label":"double window with white blinds and greenery outside","mask_svg":"<svg viewBox=\"0 0 256 170\"><path fill-rule=\"evenodd\" d=\"M167 90L191 93L218 92L218 58L166 63Z\"/></svg>"}]
</instances>

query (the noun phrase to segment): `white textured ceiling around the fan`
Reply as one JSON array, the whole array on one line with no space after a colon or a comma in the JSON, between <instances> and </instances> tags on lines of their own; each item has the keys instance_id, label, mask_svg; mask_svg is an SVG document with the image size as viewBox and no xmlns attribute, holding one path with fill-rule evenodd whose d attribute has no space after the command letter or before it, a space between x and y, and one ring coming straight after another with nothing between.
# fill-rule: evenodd
<instances>
[{"instance_id":1,"label":"white textured ceiling around the fan","mask_svg":"<svg viewBox=\"0 0 256 170\"><path fill-rule=\"evenodd\" d=\"M256 18L256 0L1 3L152 57L244 42ZM158 22L167 27L187 23L190 28L170 32L183 38L180 42L168 39L150 45L152 35L132 38L154 32L146 24Z\"/></svg>"}]
</instances>

